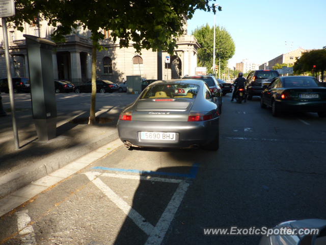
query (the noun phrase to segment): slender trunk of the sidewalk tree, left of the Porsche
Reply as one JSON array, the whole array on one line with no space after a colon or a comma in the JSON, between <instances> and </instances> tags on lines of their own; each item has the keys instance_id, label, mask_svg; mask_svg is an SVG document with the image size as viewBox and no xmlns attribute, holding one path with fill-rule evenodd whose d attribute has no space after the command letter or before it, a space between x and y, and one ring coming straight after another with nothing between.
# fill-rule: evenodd
<instances>
[{"instance_id":1,"label":"slender trunk of the sidewalk tree, left of the Porsche","mask_svg":"<svg viewBox=\"0 0 326 245\"><path fill-rule=\"evenodd\" d=\"M91 110L88 124L96 124L95 120L95 105L96 105L96 41L93 41L92 48L92 96L91 96Z\"/></svg>"}]
</instances>

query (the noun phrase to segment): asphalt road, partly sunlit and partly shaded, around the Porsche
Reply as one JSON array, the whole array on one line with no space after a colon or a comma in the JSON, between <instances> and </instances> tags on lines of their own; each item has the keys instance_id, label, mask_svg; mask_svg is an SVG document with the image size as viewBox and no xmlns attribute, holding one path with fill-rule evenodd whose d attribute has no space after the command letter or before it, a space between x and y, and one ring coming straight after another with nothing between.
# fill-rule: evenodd
<instances>
[{"instance_id":1,"label":"asphalt road, partly sunlit and partly shaded, around the Porsche","mask_svg":"<svg viewBox=\"0 0 326 245\"><path fill-rule=\"evenodd\" d=\"M258 244L203 228L326 219L326 119L223 107L218 152L121 146L3 216L0 243Z\"/></svg>"}]
</instances>

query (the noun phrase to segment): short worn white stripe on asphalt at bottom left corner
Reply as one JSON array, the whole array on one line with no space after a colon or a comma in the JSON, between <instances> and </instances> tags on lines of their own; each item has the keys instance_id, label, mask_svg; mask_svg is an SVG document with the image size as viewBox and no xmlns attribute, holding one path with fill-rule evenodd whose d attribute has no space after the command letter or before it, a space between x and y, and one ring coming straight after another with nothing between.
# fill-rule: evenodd
<instances>
[{"instance_id":1,"label":"short worn white stripe on asphalt at bottom left corner","mask_svg":"<svg viewBox=\"0 0 326 245\"><path fill-rule=\"evenodd\" d=\"M28 214L28 210L22 210L20 212L16 212L17 215L17 225L19 235L21 235L21 245L36 245L34 229L31 223L31 217Z\"/></svg>"}]
</instances>

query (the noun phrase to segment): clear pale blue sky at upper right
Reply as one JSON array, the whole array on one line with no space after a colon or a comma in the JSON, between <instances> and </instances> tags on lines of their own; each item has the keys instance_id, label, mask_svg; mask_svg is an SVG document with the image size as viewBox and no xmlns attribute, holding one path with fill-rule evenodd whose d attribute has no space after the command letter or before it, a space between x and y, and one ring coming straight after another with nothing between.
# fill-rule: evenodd
<instances>
[{"instance_id":1,"label":"clear pale blue sky at upper right","mask_svg":"<svg viewBox=\"0 0 326 245\"><path fill-rule=\"evenodd\" d=\"M229 67L242 59L261 65L298 47L326 46L326 0L216 0L216 26L224 27L235 43ZM188 34L214 24L212 12L197 10L188 20ZM288 45L285 45L285 42Z\"/></svg>"}]
</instances>

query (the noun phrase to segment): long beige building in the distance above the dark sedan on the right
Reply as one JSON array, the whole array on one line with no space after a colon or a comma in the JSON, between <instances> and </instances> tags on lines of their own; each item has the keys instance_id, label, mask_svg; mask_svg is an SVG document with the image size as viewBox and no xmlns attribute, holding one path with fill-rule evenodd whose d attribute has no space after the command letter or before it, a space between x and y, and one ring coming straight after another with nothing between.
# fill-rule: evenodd
<instances>
[{"instance_id":1,"label":"long beige building in the distance above the dark sedan on the right","mask_svg":"<svg viewBox=\"0 0 326 245\"><path fill-rule=\"evenodd\" d=\"M309 50L305 50L302 47L297 48L296 50L290 51L286 54L282 54L274 59L271 59L259 66L259 69L273 69L276 64L288 64L293 65L298 57L302 56L302 53L307 52Z\"/></svg>"}]
</instances>

